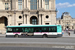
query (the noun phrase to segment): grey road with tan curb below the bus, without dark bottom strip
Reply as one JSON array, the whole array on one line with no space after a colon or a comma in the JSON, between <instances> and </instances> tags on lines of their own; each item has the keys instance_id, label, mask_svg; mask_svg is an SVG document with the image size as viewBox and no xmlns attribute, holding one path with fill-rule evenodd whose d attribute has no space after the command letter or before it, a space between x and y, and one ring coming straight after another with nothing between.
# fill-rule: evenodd
<instances>
[{"instance_id":1,"label":"grey road with tan curb below the bus, without dark bottom strip","mask_svg":"<svg viewBox=\"0 0 75 50\"><path fill-rule=\"evenodd\" d=\"M0 47L6 46L75 49L75 38L0 38Z\"/></svg>"}]
</instances>

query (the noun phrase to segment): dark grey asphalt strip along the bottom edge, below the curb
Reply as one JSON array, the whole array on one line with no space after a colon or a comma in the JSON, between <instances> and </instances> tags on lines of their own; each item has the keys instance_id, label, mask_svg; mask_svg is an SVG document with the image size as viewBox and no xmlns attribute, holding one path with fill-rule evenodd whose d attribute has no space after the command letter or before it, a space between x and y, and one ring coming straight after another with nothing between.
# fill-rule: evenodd
<instances>
[{"instance_id":1,"label":"dark grey asphalt strip along the bottom edge, below the curb","mask_svg":"<svg viewBox=\"0 0 75 50\"><path fill-rule=\"evenodd\" d=\"M38 48L38 47L0 47L0 50L73 50L64 48Z\"/></svg>"}]
</instances>

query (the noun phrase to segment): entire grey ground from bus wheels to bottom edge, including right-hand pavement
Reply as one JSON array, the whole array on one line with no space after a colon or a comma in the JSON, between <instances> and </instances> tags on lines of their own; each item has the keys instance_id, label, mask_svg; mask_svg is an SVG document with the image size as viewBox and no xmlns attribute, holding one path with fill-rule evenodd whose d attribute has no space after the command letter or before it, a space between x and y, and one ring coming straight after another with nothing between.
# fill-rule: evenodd
<instances>
[{"instance_id":1,"label":"entire grey ground from bus wheels to bottom edge, including right-hand pavement","mask_svg":"<svg viewBox=\"0 0 75 50\"><path fill-rule=\"evenodd\" d=\"M75 50L75 34L60 38L0 37L0 50Z\"/></svg>"}]
</instances>

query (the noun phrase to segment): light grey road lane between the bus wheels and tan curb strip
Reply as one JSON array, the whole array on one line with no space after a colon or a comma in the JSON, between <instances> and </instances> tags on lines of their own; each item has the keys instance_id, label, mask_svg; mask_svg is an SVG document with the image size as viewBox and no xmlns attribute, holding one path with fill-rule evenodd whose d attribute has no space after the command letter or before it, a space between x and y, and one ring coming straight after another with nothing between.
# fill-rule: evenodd
<instances>
[{"instance_id":1,"label":"light grey road lane between the bus wheels and tan curb strip","mask_svg":"<svg viewBox=\"0 0 75 50\"><path fill-rule=\"evenodd\" d=\"M75 45L75 37L72 38L0 38L0 43L40 43L40 44L52 44L52 43L66 43Z\"/></svg>"}]
</instances>

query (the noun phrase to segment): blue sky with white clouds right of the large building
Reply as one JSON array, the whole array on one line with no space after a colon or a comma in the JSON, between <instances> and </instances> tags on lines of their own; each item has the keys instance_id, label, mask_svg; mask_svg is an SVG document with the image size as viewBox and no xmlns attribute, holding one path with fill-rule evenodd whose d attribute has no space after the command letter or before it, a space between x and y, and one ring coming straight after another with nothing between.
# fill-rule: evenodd
<instances>
[{"instance_id":1,"label":"blue sky with white clouds right of the large building","mask_svg":"<svg viewBox=\"0 0 75 50\"><path fill-rule=\"evenodd\" d=\"M57 18L60 18L63 12L69 12L72 18L75 18L75 0L56 0Z\"/></svg>"}]
</instances>

